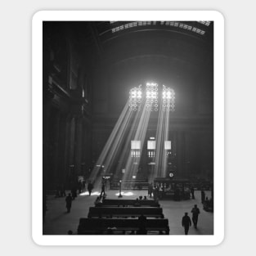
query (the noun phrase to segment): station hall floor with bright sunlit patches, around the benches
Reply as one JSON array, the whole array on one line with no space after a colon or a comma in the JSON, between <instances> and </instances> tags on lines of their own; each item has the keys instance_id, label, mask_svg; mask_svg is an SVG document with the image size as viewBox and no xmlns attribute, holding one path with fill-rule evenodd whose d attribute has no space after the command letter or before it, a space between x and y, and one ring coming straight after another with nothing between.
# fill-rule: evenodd
<instances>
[{"instance_id":1,"label":"station hall floor with bright sunlit patches, around the benches","mask_svg":"<svg viewBox=\"0 0 256 256\"><path fill-rule=\"evenodd\" d=\"M123 198L136 199L139 195L146 195L147 191L124 191ZM205 191L210 197L210 191ZM77 233L79 218L87 218L89 207L94 206L94 201L99 191L92 191L78 195L73 201L70 213L66 213L65 197L55 198L54 195L47 195L47 213L43 224L44 235L67 235L68 231ZM117 199L119 191L107 191L107 198ZM191 216L191 209L197 204L200 209L198 227L191 226L188 235L213 235L213 213L205 212L200 203L200 191L195 191L195 200L173 201L160 200L163 208L164 218L168 218L170 235L184 235L182 227L182 216L188 212Z\"/></svg>"}]
</instances>

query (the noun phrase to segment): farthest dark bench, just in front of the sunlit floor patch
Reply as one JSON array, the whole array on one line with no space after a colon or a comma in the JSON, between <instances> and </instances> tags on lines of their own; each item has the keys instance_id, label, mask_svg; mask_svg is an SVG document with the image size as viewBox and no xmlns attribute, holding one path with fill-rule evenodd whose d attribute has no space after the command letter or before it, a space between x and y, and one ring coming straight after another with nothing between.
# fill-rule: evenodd
<instances>
[{"instance_id":1,"label":"farthest dark bench, just in front of the sunlit floor patch","mask_svg":"<svg viewBox=\"0 0 256 256\"><path fill-rule=\"evenodd\" d=\"M126 200L126 199L105 199L102 200L101 203L95 204L95 206L97 207L107 207L107 206L111 206L111 207L119 207L119 206L124 206L124 207L128 207L128 206L137 206L136 204L138 204L138 206L150 206L150 207L159 207L159 203L155 202L155 200Z\"/></svg>"}]
</instances>

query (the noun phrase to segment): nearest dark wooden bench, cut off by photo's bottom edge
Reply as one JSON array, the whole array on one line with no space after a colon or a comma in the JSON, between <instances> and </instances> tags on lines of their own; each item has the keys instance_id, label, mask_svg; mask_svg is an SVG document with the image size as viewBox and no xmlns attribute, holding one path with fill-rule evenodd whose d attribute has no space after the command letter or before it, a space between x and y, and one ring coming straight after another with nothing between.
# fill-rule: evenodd
<instances>
[{"instance_id":1,"label":"nearest dark wooden bench, cut off by photo's bottom edge","mask_svg":"<svg viewBox=\"0 0 256 256\"><path fill-rule=\"evenodd\" d=\"M111 228L113 233L122 231L138 231L140 222L133 218L80 218L78 235L103 235ZM151 218L146 219L146 231L158 231L159 234L168 235L168 219L167 218Z\"/></svg>"}]
</instances>

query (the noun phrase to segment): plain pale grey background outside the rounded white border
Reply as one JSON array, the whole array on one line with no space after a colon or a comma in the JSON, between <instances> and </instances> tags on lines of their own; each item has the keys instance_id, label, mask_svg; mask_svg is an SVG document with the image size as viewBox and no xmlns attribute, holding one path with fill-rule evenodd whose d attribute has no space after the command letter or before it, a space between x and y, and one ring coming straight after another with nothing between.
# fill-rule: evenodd
<instances>
[{"instance_id":1,"label":"plain pale grey background outside the rounded white border","mask_svg":"<svg viewBox=\"0 0 256 256\"><path fill-rule=\"evenodd\" d=\"M31 238L31 19L39 10L216 10L225 17L226 222L218 246L38 246ZM253 1L6 1L0 8L1 253L254 254L256 94ZM97 238L96 238L97 239ZM115 239L115 237L114 237ZM170 236L170 239L172 237Z\"/></svg>"}]
</instances>

